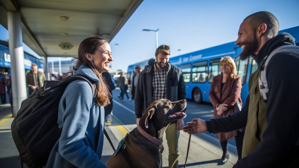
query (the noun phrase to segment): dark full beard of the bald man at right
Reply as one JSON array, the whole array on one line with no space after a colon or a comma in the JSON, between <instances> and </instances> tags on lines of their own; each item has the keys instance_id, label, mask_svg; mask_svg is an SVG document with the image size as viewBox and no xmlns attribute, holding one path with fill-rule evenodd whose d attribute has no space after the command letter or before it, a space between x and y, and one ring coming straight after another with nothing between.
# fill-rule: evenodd
<instances>
[{"instance_id":1,"label":"dark full beard of the bald man at right","mask_svg":"<svg viewBox=\"0 0 299 168\"><path fill-rule=\"evenodd\" d=\"M244 41L239 44L239 46L243 46L244 48L240 53L240 60L246 60L250 55L254 55L254 53L258 50L259 42L254 36L252 41Z\"/></svg>"}]
</instances>

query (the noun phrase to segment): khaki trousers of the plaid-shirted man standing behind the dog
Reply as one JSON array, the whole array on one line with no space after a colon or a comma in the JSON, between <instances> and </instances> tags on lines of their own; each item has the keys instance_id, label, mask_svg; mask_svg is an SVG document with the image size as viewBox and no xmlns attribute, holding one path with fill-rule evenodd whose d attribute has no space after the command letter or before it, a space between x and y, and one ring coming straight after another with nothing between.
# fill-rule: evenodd
<instances>
[{"instance_id":1,"label":"khaki trousers of the plaid-shirted man standing behind the dog","mask_svg":"<svg viewBox=\"0 0 299 168\"><path fill-rule=\"evenodd\" d=\"M168 167L178 168L178 138L180 136L180 131L177 130L177 124L168 125L165 130L166 140L168 145ZM162 155L161 156L161 167L162 167Z\"/></svg>"}]
</instances>

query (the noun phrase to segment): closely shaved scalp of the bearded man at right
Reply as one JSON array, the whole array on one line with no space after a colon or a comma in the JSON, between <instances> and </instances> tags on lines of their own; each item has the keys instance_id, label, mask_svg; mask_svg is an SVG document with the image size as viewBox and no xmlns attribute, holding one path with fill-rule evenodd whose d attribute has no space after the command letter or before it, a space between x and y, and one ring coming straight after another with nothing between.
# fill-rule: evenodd
<instances>
[{"instance_id":1,"label":"closely shaved scalp of the bearded man at right","mask_svg":"<svg viewBox=\"0 0 299 168\"><path fill-rule=\"evenodd\" d=\"M279 23L277 18L270 12L260 11L253 13L244 20L249 19L249 25L255 30L259 25L265 23L267 25L268 38L272 38L278 34ZM244 21L243 21L244 22Z\"/></svg>"}]
</instances>

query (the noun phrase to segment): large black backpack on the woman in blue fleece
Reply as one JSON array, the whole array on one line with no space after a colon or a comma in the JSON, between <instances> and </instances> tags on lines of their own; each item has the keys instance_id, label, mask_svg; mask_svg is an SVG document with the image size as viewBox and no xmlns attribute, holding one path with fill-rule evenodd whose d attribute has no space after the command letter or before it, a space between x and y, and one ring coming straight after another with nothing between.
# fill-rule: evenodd
<instances>
[{"instance_id":1,"label":"large black backpack on the woman in blue fleece","mask_svg":"<svg viewBox=\"0 0 299 168\"><path fill-rule=\"evenodd\" d=\"M58 127L59 101L67 85L74 80L85 80L93 89L95 82L83 75L75 75L63 81L45 81L29 98L21 103L12 121L12 138L20 153L21 165L45 166L50 152L61 135Z\"/></svg>"}]
</instances>

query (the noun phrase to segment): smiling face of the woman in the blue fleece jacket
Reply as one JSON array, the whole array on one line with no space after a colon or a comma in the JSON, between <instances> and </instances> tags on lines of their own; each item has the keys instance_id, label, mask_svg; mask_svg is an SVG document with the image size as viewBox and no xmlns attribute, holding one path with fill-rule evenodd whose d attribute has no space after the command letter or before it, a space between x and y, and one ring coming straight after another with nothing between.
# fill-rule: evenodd
<instances>
[{"instance_id":1,"label":"smiling face of the woman in the blue fleece jacket","mask_svg":"<svg viewBox=\"0 0 299 168\"><path fill-rule=\"evenodd\" d=\"M113 61L109 43L102 44L91 56L99 73L109 71L110 62Z\"/></svg>"}]
</instances>

